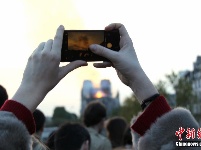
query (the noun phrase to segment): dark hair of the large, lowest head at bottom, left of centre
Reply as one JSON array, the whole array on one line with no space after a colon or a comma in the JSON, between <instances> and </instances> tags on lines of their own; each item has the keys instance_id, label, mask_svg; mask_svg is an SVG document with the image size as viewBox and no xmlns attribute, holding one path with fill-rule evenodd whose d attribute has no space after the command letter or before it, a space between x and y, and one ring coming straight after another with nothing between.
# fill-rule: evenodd
<instances>
[{"instance_id":1,"label":"dark hair of the large, lowest head at bottom, left of centre","mask_svg":"<svg viewBox=\"0 0 201 150\"><path fill-rule=\"evenodd\" d=\"M80 150L85 141L89 141L88 131L79 123L65 123L56 132L54 137L56 150Z\"/></svg>"}]
</instances>

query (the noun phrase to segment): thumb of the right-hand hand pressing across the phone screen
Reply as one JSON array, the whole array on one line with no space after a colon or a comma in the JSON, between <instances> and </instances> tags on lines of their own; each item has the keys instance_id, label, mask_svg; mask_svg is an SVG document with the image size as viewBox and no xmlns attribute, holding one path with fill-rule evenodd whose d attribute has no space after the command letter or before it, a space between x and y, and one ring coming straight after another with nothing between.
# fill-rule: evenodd
<instances>
[{"instance_id":1,"label":"thumb of the right-hand hand pressing across the phone screen","mask_svg":"<svg viewBox=\"0 0 201 150\"><path fill-rule=\"evenodd\" d=\"M89 46L89 49L97 55L100 55L102 57L105 57L107 59L109 59L110 61L114 62L117 59L117 54L118 52L110 50L106 47L103 47L101 45L98 44L92 44Z\"/></svg>"}]
</instances>

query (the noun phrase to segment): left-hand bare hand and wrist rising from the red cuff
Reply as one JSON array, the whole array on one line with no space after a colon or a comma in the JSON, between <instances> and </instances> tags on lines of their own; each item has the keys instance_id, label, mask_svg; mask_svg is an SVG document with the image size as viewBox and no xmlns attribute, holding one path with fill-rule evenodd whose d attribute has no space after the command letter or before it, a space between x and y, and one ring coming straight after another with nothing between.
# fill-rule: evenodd
<instances>
[{"instance_id":1,"label":"left-hand bare hand and wrist rising from the red cuff","mask_svg":"<svg viewBox=\"0 0 201 150\"><path fill-rule=\"evenodd\" d=\"M64 27L57 29L54 40L41 43L29 57L21 85L13 99L34 111L45 95L72 70L86 66L85 61L74 61L59 67Z\"/></svg>"}]
</instances>

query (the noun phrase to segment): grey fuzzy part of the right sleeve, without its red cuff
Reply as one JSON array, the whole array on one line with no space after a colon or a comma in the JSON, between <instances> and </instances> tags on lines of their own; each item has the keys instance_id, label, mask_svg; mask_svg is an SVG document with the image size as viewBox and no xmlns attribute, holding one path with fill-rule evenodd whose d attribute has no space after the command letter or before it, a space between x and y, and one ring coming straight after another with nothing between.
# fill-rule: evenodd
<instances>
[{"instance_id":1,"label":"grey fuzzy part of the right sleeve, without its red cuff","mask_svg":"<svg viewBox=\"0 0 201 150\"><path fill-rule=\"evenodd\" d=\"M144 150L146 147L150 150L176 149L175 141L179 139L175 132L180 127L197 130L199 125L189 110L178 107L157 118L150 129L139 139L139 149ZM182 135L182 138L186 140L186 133Z\"/></svg>"}]
</instances>

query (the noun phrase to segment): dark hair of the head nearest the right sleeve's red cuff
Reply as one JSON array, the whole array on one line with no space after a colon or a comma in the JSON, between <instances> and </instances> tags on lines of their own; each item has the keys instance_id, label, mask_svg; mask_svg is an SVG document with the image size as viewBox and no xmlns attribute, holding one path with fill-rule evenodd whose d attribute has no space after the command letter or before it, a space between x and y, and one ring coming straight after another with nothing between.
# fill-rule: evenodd
<instances>
[{"instance_id":1,"label":"dark hair of the head nearest the right sleeve's red cuff","mask_svg":"<svg viewBox=\"0 0 201 150\"><path fill-rule=\"evenodd\" d=\"M123 137L126 129L127 123L124 118L113 117L108 120L106 130L113 148L123 146Z\"/></svg>"}]
</instances>

